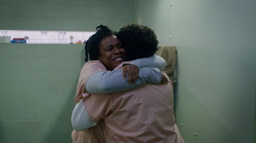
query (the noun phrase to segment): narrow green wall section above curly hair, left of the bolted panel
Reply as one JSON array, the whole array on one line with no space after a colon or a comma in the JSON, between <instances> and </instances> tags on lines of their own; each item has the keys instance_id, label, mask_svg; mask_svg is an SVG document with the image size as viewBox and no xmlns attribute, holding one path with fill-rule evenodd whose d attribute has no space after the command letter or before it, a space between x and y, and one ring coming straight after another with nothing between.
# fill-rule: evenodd
<instances>
[{"instance_id":1,"label":"narrow green wall section above curly hair, left of the bolted panel","mask_svg":"<svg viewBox=\"0 0 256 143\"><path fill-rule=\"evenodd\" d=\"M169 0L140 0L133 4L133 23L154 28L160 44L172 44L172 9Z\"/></svg>"}]
</instances>

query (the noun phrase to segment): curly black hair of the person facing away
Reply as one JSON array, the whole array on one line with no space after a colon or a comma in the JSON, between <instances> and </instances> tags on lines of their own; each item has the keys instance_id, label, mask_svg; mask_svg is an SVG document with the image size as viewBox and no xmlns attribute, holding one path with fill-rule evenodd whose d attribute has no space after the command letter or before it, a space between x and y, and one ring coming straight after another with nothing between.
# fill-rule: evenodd
<instances>
[{"instance_id":1,"label":"curly black hair of the person facing away","mask_svg":"<svg viewBox=\"0 0 256 143\"><path fill-rule=\"evenodd\" d=\"M124 25L117 37L125 49L126 60L147 58L158 50L158 40L155 32L140 24Z\"/></svg>"}]
</instances>

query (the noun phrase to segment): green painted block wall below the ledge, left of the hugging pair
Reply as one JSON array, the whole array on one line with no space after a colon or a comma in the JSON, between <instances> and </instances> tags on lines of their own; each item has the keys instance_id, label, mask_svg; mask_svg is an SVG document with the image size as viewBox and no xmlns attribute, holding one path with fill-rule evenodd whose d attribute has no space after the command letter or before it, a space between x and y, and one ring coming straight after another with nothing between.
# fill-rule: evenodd
<instances>
[{"instance_id":1,"label":"green painted block wall below the ledge, left of the hugging pair","mask_svg":"<svg viewBox=\"0 0 256 143\"><path fill-rule=\"evenodd\" d=\"M83 47L0 44L0 142L72 142Z\"/></svg>"}]
</instances>

